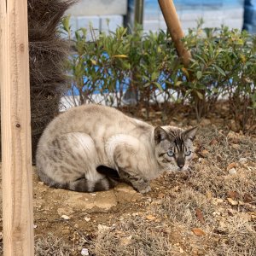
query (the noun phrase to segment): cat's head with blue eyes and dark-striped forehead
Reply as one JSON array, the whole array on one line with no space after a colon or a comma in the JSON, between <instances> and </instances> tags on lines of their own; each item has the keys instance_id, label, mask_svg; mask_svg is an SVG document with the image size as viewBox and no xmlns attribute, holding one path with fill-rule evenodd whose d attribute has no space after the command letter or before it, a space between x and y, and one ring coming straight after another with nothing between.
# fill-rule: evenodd
<instances>
[{"instance_id":1,"label":"cat's head with blue eyes and dark-striped forehead","mask_svg":"<svg viewBox=\"0 0 256 256\"><path fill-rule=\"evenodd\" d=\"M173 126L158 126L154 129L155 156L161 170L188 170L197 129L183 130Z\"/></svg>"}]
</instances>

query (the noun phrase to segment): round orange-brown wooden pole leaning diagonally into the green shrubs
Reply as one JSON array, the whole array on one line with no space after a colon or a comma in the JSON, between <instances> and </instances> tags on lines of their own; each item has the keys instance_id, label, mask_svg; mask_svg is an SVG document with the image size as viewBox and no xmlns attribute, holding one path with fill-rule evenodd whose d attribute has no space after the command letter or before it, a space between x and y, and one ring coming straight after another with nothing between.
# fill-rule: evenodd
<instances>
[{"instance_id":1,"label":"round orange-brown wooden pole leaning diagonally into the green shrubs","mask_svg":"<svg viewBox=\"0 0 256 256\"><path fill-rule=\"evenodd\" d=\"M166 25L171 33L172 40L177 49L177 54L182 58L183 64L187 66L189 64L189 58L191 57L189 50L185 49L181 39L184 37L184 33L181 24L178 20L177 12L172 0L158 0L160 9L166 20Z\"/></svg>"}]
</instances>

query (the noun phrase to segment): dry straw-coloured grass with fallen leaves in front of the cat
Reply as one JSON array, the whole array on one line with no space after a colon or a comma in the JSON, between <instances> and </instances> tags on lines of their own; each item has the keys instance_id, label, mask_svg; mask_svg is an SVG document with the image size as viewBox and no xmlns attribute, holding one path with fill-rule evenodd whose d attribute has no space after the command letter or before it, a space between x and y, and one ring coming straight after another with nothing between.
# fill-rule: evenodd
<instances>
[{"instance_id":1,"label":"dry straw-coloured grass with fallen leaves in front of the cat","mask_svg":"<svg viewBox=\"0 0 256 256\"><path fill-rule=\"evenodd\" d=\"M81 255L83 247L94 256L256 255L256 220L250 213L256 212L255 140L206 128L195 143L199 158L192 172L160 177L141 201L120 208L119 216L113 212L108 227L97 230L97 223L86 233L89 241L82 231L69 236L77 240L61 240L58 232L36 238L36 255ZM231 162L233 175L226 170ZM227 201L230 192L236 206ZM195 236L194 228L205 234Z\"/></svg>"}]
</instances>

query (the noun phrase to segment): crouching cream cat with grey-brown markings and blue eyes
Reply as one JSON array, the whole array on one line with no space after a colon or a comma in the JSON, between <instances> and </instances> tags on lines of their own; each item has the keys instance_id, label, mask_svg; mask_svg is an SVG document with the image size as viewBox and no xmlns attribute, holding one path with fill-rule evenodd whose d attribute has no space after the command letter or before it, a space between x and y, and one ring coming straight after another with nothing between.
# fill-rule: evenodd
<instances>
[{"instance_id":1,"label":"crouching cream cat with grey-brown markings and blue eyes","mask_svg":"<svg viewBox=\"0 0 256 256\"><path fill-rule=\"evenodd\" d=\"M80 192L108 190L121 180L147 193L162 172L188 169L196 131L154 127L101 105L71 108L39 139L38 176L51 187Z\"/></svg>"}]
</instances>

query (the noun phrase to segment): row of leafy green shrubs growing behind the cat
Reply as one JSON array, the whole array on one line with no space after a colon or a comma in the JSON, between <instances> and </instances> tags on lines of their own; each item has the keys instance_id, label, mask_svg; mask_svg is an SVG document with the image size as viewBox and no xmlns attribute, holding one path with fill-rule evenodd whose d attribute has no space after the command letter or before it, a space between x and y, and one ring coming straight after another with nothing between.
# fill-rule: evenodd
<instances>
[{"instance_id":1,"label":"row of leafy green shrubs growing behind the cat","mask_svg":"<svg viewBox=\"0 0 256 256\"><path fill-rule=\"evenodd\" d=\"M95 102L101 95L108 105L120 106L124 91L137 95L136 103L189 103L197 119L209 113L220 99L227 99L236 124L243 130L255 122L256 39L228 27L204 28L201 22L183 39L193 58L184 67L166 32L148 34L137 27L132 33L119 27L94 37L93 29L79 29L75 38L66 17L62 22L73 45L68 70L70 90L79 91L79 102ZM91 34L93 42L87 42Z\"/></svg>"}]
</instances>

